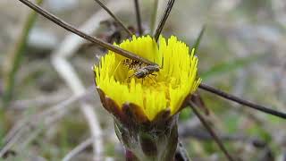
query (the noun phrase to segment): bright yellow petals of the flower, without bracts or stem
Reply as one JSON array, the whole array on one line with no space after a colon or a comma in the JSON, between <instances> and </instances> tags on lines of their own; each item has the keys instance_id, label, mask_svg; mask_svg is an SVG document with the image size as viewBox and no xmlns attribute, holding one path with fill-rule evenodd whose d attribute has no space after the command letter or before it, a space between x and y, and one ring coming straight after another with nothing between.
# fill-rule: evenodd
<instances>
[{"instance_id":1,"label":"bright yellow petals of the flower, without bracts or stem","mask_svg":"<svg viewBox=\"0 0 286 161\"><path fill-rule=\"evenodd\" d=\"M136 66L130 67L124 61L126 57L108 51L94 67L94 72L97 88L114 101L116 110L122 111L126 104L134 105L147 121L152 122L163 111L169 111L170 115L178 113L185 98L198 89L201 81L197 77L198 57L194 55L194 49L189 51L189 47L176 37L167 41L160 37L157 44L149 36L133 36L119 47L158 64L160 71L138 79L133 75L138 70ZM104 106L109 108L105 103Z\"/></svg>"}]
</instances>

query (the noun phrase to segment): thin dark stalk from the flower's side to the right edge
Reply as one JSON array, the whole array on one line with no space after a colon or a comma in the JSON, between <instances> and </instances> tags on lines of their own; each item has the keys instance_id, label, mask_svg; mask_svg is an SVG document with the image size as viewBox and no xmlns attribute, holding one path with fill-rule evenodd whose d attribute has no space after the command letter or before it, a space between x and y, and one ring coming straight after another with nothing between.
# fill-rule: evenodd
<instances>
[{"instance_id":1,"label":"thin dark stalk from the flower's side to the right edge","mask_svg":"<svg viewBox=\"0 0 286 161\"><path fill-rule=\"evenodd\" d=\"M273 110L273 109L270 109L270 108L267 108L266 106L261 106L261 105L257 105L255 103L252 103L248 100L245 100L245 99L242 99L240 97L236 97L236 96L233 96L229 93L226 93L222 90L219 90L219 89L214 89L213 87L211 86L208 86L204 83L200 83L200 85L198 86L198 88L200 89L204 89L208 92L211 92L219 97L223 97L225 99L229 99L233 102L236 102L236 103L239 103L241 105L244 105L244 106L248 106L248 107L251 107L251 108L254 108L258 111L261 111L261 112L264 112L266 114L273 114L275 116L278 116L278 117L281 117L283 119L286 119L286 114L285 113L282 113L282 112L279 112L279 111L276 111L276 110Z\"/></svg>"}]
</instances>

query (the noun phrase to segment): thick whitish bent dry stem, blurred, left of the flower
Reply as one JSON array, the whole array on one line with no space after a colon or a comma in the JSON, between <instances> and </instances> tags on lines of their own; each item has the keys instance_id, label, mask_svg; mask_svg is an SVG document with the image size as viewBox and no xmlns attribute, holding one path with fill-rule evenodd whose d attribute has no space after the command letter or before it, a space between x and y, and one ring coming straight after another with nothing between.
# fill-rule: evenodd
<instances>
[{"instance_id":1,"label":"thick whitish bent dry stem, blurred, left of the flower","mask_svg":"<svg viewBox=\"0 0 286 161\"><path fill-rule=\"evenodd\" d=\"M106 6L113 11L114 13L119 12L123 8L126 8L128 2L126 0L118 0L116 3L111 1ZM104 9L99 10L97 13L91 16L91 18L86 21L80 30L92 35L99 27L101 21L105 21L110 18L110 15L105 12ZM82 84L79 76L73 69L71 63L68 61L68 58L75 54L76 51L86 42L85 39L80 38L77 35L70 34L63 39L62 44L59 48L55 49L52 55L52 64L55 67L55 70L61 75L63 80L71 88L72 92L75 95L80 95L85 91L85 87ZM102 157L104 146L101 139L101 128L98 123L97 115L94 111L94 107L88 103L81 103L81 111L87 119L89 129L93 140L93 149L94 149L94 159Z\"/></svg>"}]
</instances>

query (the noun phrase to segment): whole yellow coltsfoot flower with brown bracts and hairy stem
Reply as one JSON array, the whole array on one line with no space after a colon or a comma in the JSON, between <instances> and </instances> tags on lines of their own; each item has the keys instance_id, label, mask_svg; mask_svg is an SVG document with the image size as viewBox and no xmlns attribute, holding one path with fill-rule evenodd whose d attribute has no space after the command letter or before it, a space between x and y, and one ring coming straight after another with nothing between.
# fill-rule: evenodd
<instances>
[{"instance_id":1,"label":"whole yellow coltsfoot flower with brown bracts and hairy stem","mask_svg":"<svg viewBox=\"0 0 286 161\"><path fill-rule=\"evenodd\" d=\"M168 160L178 141L177 114L198 89L198 57L172 36L124 40L119 47L159 65L160 70L138 78L146 64L112 51L94 66L97 91L114 115L115 131L124 146L142 160Z\"/></svg>"}]
</instances>

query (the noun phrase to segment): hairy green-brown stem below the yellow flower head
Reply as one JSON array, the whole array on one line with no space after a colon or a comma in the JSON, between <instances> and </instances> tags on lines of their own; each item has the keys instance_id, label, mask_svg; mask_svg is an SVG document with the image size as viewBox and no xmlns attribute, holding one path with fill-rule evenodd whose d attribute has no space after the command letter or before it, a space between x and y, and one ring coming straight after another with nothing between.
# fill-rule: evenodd
<instances>
[{"instance_id":1,"label":"hairy green-brown stem below the yellow flower head","mask_svg":"<svg viewBox=\"0 0 286 161\"><path fill-rule=\"evenodd\" d=\"M114 119L118 139L127 149L126 159L172 161L178 144L178 115L159 123L121 123Z\"/></svg>"}]
</instances>

